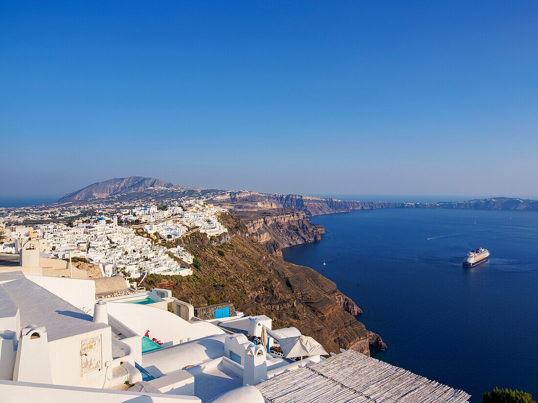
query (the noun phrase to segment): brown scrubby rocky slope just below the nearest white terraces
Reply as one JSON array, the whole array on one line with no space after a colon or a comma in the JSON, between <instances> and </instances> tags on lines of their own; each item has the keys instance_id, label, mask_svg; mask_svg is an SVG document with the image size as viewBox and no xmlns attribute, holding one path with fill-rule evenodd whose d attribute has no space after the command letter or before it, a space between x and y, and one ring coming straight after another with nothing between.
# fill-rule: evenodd
<instances>
[{"instance_id":1,"label":"brown scrubby rocky slope just below the nearest white terraces","mask_svg":"<svg viewBox=\"0 0 538 403\"><path fill-rule=\"evenodd\" d=\"M174 297L194 306L230 301L246 314L270 316L275 329L295 326L327 351L353 348L370 354L367 330L346 312L360 310L335 283L268 254L234 215L222 214L221 222L229 231L222 236L208 240L192 233L181 239L199 262L193 276L149 275L143 285L171 289Z\"/></svg>"}]
</instances>

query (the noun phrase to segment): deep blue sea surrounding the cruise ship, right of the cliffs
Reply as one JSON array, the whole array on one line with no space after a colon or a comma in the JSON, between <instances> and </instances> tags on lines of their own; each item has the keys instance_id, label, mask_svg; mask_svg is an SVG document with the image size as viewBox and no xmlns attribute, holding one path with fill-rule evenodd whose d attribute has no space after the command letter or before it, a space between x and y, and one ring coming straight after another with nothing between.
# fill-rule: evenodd
<instances>
[{"instance_id":1,"label":"deep blue sea surrounding the cruise ship, right of the cliffs","mask_svg":"<svg viewBox=\"0 0 538 403\"><path fill-rule=\"evenodd\" d=\"M538 212L392 208L311 220L323 240L284 258L357 303L357 319L388 345L373 357L462 389L472 403L495 386L538 398ZM478 247L489 260L463 268Z\"/></svg>"}]
</instances>

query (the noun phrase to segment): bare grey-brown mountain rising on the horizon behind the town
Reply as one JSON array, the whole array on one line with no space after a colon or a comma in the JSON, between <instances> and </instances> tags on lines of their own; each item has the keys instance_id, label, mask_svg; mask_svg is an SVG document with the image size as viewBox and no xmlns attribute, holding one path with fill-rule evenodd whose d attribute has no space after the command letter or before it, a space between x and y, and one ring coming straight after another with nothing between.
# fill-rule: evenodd
<instances>
[{"instance_id":1,"label":"bare grey-brown mountain rising on the horizon behind the town","mask_svg":"<svg viewBox=\"0 0 538 403\"><path fill-rule=\"evenodd\" d=\"M155 191L187 191L203 188L187 188L186 186L175 185L160 179L147 178L142 176L129 176L128 178L112 178L108 181L93 183L84 189L68 193L58 200L59 203L74 202L75 200L86 200L93 198L106 198L110 196L122 195L134 192L155 192Z\"/></svg>"}]
</instances>

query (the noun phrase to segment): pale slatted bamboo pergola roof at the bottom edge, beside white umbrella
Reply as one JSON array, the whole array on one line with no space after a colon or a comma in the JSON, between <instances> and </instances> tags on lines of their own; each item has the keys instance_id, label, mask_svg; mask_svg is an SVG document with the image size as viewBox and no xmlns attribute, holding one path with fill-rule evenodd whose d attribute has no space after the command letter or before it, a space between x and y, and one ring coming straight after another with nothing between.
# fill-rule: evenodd
<instances>
[{"instance_id":1,"label":"pale slatted bamboo pergola roof at the bottom edge, beside white umbrella","mask_svg":"<svg viewBox=\"0 0 538 403\"><path fill-rule=\"evenodd\" d=\"M348 350L256 385L273 403L465 403L470 395Z\"/></svg>"}]
</instances>

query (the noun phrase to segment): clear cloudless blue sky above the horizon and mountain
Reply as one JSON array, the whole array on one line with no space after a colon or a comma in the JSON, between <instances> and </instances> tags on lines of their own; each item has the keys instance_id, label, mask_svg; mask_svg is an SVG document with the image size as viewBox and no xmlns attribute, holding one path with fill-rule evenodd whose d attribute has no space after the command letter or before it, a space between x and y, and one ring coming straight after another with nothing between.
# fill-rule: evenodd
<instances>
[{"instance_id":1,"label":"clear cloudless blue sky above the horizon and mountain","mask_svg":"<svg viewBox=\"0 0 538 403\"><path fill-rule=\"evenodd\" d=\"M4 197L538 198L538 2L3 2Z\"/></svg>"}]
</instances>

